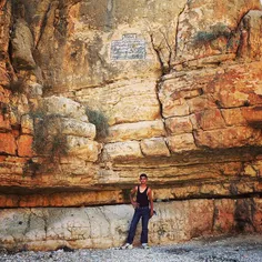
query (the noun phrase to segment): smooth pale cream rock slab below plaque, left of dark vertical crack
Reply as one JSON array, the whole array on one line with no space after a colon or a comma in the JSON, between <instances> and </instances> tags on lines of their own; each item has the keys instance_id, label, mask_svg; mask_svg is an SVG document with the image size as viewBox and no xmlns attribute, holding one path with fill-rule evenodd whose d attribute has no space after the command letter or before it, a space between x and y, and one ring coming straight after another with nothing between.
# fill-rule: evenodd
<instances>
[{"instance_id":1,"label":"smooth pale cream rock slab below plaque, left of dark vertical crack","mask_svg":"<svg viewBox=\"0 0 262 262\"><path fill-rule=\"evenodd\" d=\"M74 99L101 111L110 125L161 119L157 78L119 80L105 87L75 91Z\"/></svg>"}]
</instances>

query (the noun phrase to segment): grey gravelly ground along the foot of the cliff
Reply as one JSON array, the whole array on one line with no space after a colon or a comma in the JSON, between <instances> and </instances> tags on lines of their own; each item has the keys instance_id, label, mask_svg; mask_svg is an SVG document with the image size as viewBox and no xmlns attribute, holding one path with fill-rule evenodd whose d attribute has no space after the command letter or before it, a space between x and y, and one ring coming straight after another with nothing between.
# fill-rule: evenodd
<instances>
[{"instance_id":1,"label":"grey gravelly ground along the foot of the cliff","mask_svg":"<svg viewBox=\"0 0 262 262\"><path fill-rule=\"evenodd\" d=\"M107 262L262 262L262 235L220 236L190 242L151 246L149 250L58 250L52 252L0 253L0 261L107 261Z\"/></svg>"}]
</instances>

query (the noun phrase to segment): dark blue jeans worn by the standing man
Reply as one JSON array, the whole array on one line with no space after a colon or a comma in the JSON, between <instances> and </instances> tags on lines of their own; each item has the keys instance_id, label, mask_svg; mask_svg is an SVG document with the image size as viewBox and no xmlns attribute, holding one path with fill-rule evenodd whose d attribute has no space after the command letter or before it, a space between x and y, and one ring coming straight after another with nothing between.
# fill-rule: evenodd
<instances>
[{"instance_id":1,"label":"dark blue jeans worn by the standing man","mask_svg":"<svg viewBox=\"0 0 262 262\"><path fill-rule=\"evenodd\" d=\"M142 232L141 232L141 243L148 243L148 224L150 219L150 209L148 206L145 208L137 208L133 214L133 219L131 221L131 225L129 229L129 235L128 235L128 243L132 244L133 238L135 234L138 222L142 218Z\"/></svg>"}]
</instances>

